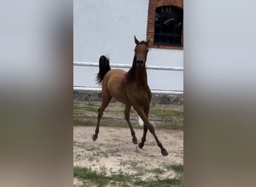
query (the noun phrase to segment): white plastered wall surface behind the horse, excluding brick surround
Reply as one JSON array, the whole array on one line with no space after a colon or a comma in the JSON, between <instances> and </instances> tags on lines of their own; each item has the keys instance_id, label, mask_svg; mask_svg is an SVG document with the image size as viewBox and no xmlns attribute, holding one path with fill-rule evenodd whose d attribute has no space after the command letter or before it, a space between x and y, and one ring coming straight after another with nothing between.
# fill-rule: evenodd
<instances>
[{"instance_id":1,"label":"white plastered wall surface behind the horse, excluding brick surround","mask_svg":"<svg viewBox=\"0 0 256 187\"><path fill-rule=\"evenodd\" d=\"M74 61L132 64L134 35L146 40L148 0L74 0ZM183 50L150 49L147 64L183 67ZM74 67L74 85L96 86L97 67ZM148 71L152 89L183 91L183 72Z\"/></svg>"}]
</instances>

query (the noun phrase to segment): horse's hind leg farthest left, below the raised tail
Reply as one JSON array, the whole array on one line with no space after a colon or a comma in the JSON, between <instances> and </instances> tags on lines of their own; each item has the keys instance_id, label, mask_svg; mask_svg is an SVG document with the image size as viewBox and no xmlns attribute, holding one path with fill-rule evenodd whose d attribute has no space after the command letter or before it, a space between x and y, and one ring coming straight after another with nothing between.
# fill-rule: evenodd
<instances>
[{"instance_id":1,"label":"horse's hind leg farthest left, below the raised tail","mask_svg":"<svg viewBox=\"0 0 256 187\"><path fill-rule=\"evenodd\" d=\"M97 126L96 126L96 129L95 129L95 134L93 135L92 139L94 141L97 140L98 138L98 134L99 134L99 131L100 131L100 119L101 117L103 116L103 111L107 108L107 106L109 105L109 102L110 102L110 99L111 99L112 96L109 96L109 93L107 94L104 94L103 96L103 102L101 103L101 106L100 108L98 109L98 117L97 117Z\"/></svg>"}]
</instances>

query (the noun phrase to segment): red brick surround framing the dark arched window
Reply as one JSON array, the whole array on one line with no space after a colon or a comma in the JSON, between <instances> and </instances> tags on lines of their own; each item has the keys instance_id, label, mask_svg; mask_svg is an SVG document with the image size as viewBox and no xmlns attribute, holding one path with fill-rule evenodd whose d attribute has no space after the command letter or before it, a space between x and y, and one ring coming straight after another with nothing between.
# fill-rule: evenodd
<instances>
[{"instance_id":1,"label":"red brick surround framing the dark arched window","mask_svg":"<svg viewBox=\"0 0 256 187\"><path fill-rule=\"evenodd\" d=\"M155 12L156 7L162 6L176 6L183 8L183 0L149 0L148 13L147 13L147 40L150 39L149 46L151 48L164 48L164 49L183 49L183 46L162 46L153 44L154 25L155 25ZM183 31L182 31L183 35ZM183 36L181 37L183 45Z\"/></svg>"}]
</instances>

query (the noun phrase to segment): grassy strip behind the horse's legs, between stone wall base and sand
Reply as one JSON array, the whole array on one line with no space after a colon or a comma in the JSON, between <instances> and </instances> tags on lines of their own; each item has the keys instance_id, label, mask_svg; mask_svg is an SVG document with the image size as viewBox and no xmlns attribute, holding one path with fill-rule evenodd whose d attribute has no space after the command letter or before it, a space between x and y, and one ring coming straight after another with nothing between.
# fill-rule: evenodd
<instances>
[{"instance_id":1,"label":"grassy strip behind the horse's legs, between stone wall base and sand","mask_svg":"<svg viewBox=\"0 0 256 187\"><path fill-rule=\"evenodd\" d=\"M112 108L111 105L114 105ZM75 126L96 126L98 108L100 102L74 102L73 103L73 124ZM127 121L124 117L124 106L110 103L106 108L108 115L104 115L100 121L100 126L117 126L128 128ZM131 110L131 123L134 129L143 129L138 126L137 114ZM156 120L156 127L161 129L178 129L183 130L183 111L163 108L163 106L153 105L150 109L149 120L154 123Z\"/></svg>"}]
</instances>

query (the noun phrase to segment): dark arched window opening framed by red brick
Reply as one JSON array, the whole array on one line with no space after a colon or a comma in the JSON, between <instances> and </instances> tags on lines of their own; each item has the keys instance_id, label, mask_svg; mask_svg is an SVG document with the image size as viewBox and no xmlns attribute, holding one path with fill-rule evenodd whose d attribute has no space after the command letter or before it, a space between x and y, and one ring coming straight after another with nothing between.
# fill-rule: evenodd
<instances>
[{"instance_id":1,"label":"dark arched window opening framed by red brick","mask_svg":"<svg viewBox=\"0 0 256 187\"><path fill-rule=\"evenodd\" d=\"M156 7L154 44L182 46L183 9L174 6Z\"/></svg>"}]
</instances>

